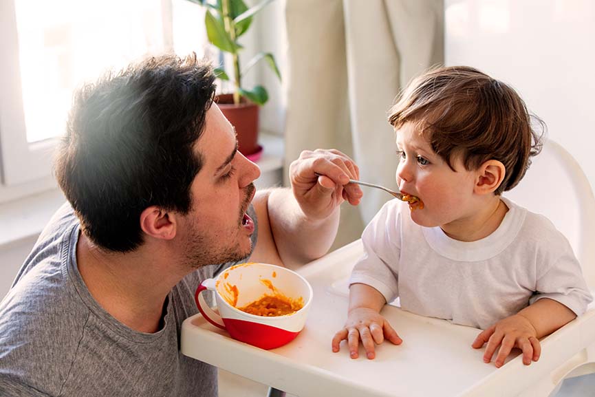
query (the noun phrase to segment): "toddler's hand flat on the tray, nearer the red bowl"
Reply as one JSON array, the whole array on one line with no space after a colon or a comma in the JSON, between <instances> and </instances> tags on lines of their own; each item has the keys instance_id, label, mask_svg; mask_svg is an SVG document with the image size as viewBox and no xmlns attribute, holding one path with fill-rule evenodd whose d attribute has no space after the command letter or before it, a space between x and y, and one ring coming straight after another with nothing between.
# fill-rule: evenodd
<instances>
[{"instance_id":1,"label":"toddler's hand flat on the tray, nearer the red bowl","mask_svg":"<svg viewBox=\"0 0 595 397\"><path fill-rule=\"evenodd\" d=\"M380 345L385 339L395 345L400 345L403 342L389 322L378 312L369 308L355 308L349 312L345 328L333 337L333 352L339 351L339 345L343 339L347 339L351 358L358 358L359 341L361 340L366 350L366 356L370 360L376 356L374 343Z\"/></svg>"}]
</instances>

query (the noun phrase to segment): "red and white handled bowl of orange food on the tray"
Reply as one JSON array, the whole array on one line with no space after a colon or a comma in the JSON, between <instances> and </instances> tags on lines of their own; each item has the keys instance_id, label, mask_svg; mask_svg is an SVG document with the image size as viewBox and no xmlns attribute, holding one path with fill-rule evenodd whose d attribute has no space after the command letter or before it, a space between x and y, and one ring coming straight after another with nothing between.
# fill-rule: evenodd
<instances>
[{"instance_id":1,"label":"red and white handled bowl of orange food on the tray","mask_svg":"<svg viewBox=\"0 0 595 397\"><path fill-rule=\"evenodd\" d=\"M202 292L215 292L219 313ZM239 264L206 279L195 292L197 308L233 339L262 349L292 341L304 328L312 305L312 286L296 272L271 264ZM249 307L245 312L241 309Z\"/></svg>"}]
</instances>

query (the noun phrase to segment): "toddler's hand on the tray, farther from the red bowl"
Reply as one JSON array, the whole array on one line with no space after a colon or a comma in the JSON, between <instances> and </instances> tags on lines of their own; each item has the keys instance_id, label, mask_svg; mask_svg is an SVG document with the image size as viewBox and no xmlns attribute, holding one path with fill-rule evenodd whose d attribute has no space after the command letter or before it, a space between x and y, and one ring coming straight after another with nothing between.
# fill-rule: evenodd
<instances>
[{"instance_id":1,"label":"toddler's hand on the tray, farther from the red bowl","mask_svg":"<svg viewBox=\"0 0 595 397\"><path fill-rule=\"evenodd\" d=\"M498 368L504 365L504 359L508 357L513 347L523 351L523 364L525 365L530 365L531 361L539 360L541 354L537 331L530 321L520 314L498 321L495 325L477 335L472 346L479 349L484 343L488 343L484 354L485 363L492 360L496 348L500 346L495 361Z\"/></svg>"}]
</instances>

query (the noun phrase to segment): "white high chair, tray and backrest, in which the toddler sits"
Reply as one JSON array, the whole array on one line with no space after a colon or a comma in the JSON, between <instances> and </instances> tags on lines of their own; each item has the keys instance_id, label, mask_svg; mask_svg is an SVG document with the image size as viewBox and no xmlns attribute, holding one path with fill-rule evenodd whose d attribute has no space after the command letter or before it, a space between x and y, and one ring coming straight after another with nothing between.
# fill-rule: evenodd
<instances>
[{"instance_id":1,"label":"white high chair, tray and backrest, in which the toddler sits","mask_svg":"<svg viewBox=\"0 0 595 397\"><path fill-rule=\"evenodd\" d=\"M595 288L595 198L572 156L551 140L534 159L511 200L543 213L570 240L589 288ZM479 330L419 316L386 305L382 314L402 337L402 345L376 346L376 358L352 360L344 343L331 339L345 323L348 279L361 241L303 266L314 291L304 330L283 347L261 350L235 341L200 314L182 325L182 354L286 391L317 396L550 396L567 376L595 372L595 304L578 319L541 340L541 358L523 365L518 352L501 368L483 362L485 347L471 343Z\"/></svg>"}]
</instances>

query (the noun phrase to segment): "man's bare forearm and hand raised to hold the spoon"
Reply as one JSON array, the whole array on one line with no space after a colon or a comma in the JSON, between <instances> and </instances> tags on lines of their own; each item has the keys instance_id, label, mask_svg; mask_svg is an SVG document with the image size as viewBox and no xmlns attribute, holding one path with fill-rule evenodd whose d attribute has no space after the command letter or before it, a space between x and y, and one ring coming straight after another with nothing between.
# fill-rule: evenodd
<instances>
[{"instance_id":1,"label":"man's bare forearm and hand raised to hold the spoon","mask_svg":"<svg viewBox=\"0 0 595 397\"><path fill-rule=\"evenodd\" d=\"M358 167L340 151L304 151L292 162L292 189L257 193L253 201L259 235L252 261L296 267L321 257L334 242L340 204L360 202L362 192L349 179Z\"/></svg>"}]
</instances>

